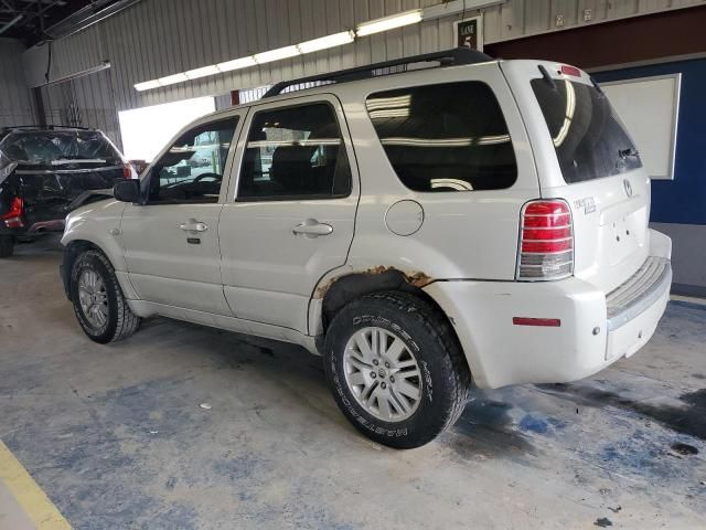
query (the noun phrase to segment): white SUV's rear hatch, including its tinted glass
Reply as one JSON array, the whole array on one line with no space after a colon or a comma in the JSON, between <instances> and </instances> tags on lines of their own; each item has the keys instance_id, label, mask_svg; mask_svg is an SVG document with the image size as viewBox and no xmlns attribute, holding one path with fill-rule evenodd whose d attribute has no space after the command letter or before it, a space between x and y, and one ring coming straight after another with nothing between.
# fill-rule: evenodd
<instances>
[{"instance_id":1,"label":"white SUV's rear hatch, including its tinted glass","mask_svg":"<svg viewBox=\"0 0 706 530\"><path fill-rule=\"evenodd\" d=\"M650 179L640 153L586 73L537 61L502 68L530 131L542 198L570 209L574 275L610 293L650 248Z\"/></svg>"}]
</instances>

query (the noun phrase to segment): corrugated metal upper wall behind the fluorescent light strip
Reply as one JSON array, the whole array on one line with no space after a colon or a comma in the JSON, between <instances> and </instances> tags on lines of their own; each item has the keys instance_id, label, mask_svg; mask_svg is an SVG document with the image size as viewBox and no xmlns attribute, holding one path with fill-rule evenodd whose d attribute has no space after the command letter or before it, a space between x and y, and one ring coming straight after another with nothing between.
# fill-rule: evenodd
<instances>
[{"instance_id":1,"label":"corrugated metal upper wall behind the fluorescent light strip","mask_svg":"<svg viewBox=\"0 0 706 530\"><path fill-rule=\"evenodd\" d=\"M135 83L353 28L359 22L427 7L440 0L143 0L126 11L53 44L52 77L109 60L118 110L282 78L384 61L453 45L453 20L372 35L354 44L271 65L138 93ZM704 0L509 0L484 10L485 42L678 9ZM584 22L584 10L591 20ZM469 11L468 15L475 14ZM655 35L659 39L659 35ZM30 83L42 83L46 46L25 54ZM38 82L39 78L39 82ZM99 89L97 86L94 89Z\"/></svg>"}]
</instances>

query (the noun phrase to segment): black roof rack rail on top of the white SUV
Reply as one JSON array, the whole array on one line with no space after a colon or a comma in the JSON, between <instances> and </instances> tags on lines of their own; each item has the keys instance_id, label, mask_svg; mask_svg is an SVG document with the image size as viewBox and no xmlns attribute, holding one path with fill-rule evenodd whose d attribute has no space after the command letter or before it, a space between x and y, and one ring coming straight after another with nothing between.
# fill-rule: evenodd
<instances>
[{"instance_id":1,"label":"black roof rack rail on top of the white SUV","mask_svg":"<svg viewBox=\"0 0 706 530\"><path fill-rule=\"evenodd\" d=\"M458 66L460 64L485 63L492 60L493 59L490 55L486 55L483 52L479 52L478 50L471 50L470 47L453 47L443 52L425 53L422 55L413 55L410 57L395 59L382 63L366 64L364 66L356 66L354 68L340 70L336 72L328 72L325 74L312 75L309 77L299 77L297 80L282 81L272 85L272 87L265 93L263 99L265 99L266 97L277 96L290 86L302 85L304 83L347 83L351 81L377 77L379 75L389 75L378 74L375 71L382 68L391 68L394 66L407 66L415 63L438 62L440 63L439 66L443 67Z\"/></svg>"}]
</instances>

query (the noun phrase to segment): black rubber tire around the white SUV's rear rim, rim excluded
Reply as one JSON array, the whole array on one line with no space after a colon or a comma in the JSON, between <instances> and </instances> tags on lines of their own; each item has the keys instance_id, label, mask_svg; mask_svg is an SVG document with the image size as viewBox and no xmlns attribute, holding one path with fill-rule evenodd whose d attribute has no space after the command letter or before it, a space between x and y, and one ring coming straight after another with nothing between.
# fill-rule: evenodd
<instances>
[{"instance_id":1,"label":"black rubber tire around the white SUV's rear rim, rim excluded","mask_svg":"<svg viewBox=\"0 0 706 530\"><path fill-rule=\"evenodd\" d=\"M400 338L419 365L421 400L407 418L385 422L375 417L345 382L346 343L368 327ZM453 425L471 385L468 364L447 319L421 298L398 292L364 296L334 317L325 337L324 370L339 407L353 426L377 443L400 449L420 447Z\"/></svg>"}]
</instances>

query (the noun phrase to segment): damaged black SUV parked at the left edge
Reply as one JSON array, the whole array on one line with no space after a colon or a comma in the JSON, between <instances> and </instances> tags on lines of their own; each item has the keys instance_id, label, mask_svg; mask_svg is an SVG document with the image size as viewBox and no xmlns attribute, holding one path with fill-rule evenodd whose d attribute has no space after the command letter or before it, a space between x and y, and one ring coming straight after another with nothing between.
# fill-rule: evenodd
<instances>
[{"instance_id":1,"label":"damaged black SUV parked at the left edge","mask_svg":"<svg viewBox=\"0 0 706 530\"><path fill-rule=\"evenodd\" d=\"M100 130L0 129L0 257L18 241L63 231L69 211L129 178L135 170Z\"/></svg>"}]
</instances>

